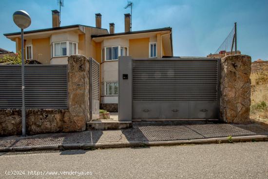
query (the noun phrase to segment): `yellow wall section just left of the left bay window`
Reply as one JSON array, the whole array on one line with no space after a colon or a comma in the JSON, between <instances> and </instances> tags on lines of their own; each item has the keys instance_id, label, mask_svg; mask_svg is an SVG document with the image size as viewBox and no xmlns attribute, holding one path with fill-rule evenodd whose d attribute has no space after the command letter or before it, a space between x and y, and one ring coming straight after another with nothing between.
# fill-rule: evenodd
<instances>
[{"instance_id":1,"label":"yellow wall section just left of the left bay window","mask_svg":"<svg viewBox=\"0 0 268 179\"><path fill-rule=\"evenodd\" d=\"M42 64L50 64L51 49L49 38L33 39L33 59Z\"/></svg>"}]
</instances>

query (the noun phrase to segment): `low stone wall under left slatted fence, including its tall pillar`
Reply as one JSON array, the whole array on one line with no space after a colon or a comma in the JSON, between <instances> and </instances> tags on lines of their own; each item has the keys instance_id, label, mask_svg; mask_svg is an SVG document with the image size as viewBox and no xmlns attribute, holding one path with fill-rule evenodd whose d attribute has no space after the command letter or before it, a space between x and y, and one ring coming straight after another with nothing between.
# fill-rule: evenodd
<instances>
[{"instance_id":1,"label":"low stone wall under left slatted fence, including its tall pillar","mask_svg":"<svg viewBox=\"0 0 268 179\"><path fill-rule=\"evenodd\" d=\"M68 58L68 110L26 110L28 135L86 130L89 113L89 60L81 55ZM21 111L0 110L0 136L21 134Z\"/></svg>"}]
</instances>

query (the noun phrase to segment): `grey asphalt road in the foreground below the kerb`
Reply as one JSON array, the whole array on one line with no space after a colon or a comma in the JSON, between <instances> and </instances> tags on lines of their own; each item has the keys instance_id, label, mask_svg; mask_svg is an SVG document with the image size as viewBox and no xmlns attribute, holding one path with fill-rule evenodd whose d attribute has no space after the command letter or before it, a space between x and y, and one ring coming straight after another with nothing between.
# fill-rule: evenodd
<instances>
[{"instance_id":1,"label":"grey asphalt road in the foreground below the kerb","mask_svg":"<svg viewBox=\"0 0 268 179\"><path fill-rule=\"evenodd\" d=\"M0 179L268 179L268 142L0 155Z\"/></svg>"}]
</instances>

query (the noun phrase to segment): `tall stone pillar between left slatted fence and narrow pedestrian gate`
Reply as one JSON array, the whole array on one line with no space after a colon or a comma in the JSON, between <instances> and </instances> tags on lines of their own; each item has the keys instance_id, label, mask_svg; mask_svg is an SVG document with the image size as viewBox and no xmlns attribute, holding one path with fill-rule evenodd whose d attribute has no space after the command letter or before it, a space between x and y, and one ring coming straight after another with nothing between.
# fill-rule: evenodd
<instances>
[{"instance_id":1,"label":"tall stone pillar between left slatted fence and narrow pedestrian gate","mask_svg":"<svg viewBox=\"0 0 268 179\"><path fill-rule=\"evenodd\" d=\"M82 55L68 57L68 108L63 132L83 131L89 113L89 60Z\"/></svg>"}]
</instances>

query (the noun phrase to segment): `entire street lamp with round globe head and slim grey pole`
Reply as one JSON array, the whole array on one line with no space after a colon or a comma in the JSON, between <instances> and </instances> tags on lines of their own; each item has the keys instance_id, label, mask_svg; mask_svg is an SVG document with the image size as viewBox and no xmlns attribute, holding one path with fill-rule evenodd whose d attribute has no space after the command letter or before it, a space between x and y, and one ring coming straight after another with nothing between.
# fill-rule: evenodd
<instances>
[{"instance_id":1,"label":"entire street lamp with round globe head and slim grey pole","mask_svg":"<svg viewBox=\"0 0 268 179\"><path fill-rule=\"evenodd\" d=\"M31 25L31 18L25 11L19 10L13 14L13 21L21 30L21 94L22 94L22 105L21 105L21 126L22 126L22 137L26 135L26 119L25 119L25 95L24 95L24 40L23 40L23 29Z\"/></svg>"}]
</instances>

